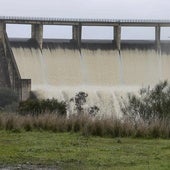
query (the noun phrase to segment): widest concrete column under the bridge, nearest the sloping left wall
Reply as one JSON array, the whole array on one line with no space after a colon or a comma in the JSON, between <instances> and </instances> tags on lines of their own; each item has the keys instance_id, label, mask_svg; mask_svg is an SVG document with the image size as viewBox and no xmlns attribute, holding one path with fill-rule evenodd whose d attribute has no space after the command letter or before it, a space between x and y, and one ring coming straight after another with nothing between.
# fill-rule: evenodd
<instances>
[{"instance_id":1,"label":"widest concrete column under the bridge, nearest the sloping left wall","mask_svg":"<svg viewBox=\"0 0 170 170\"><path fill-rule=\"evenodd\" d=\"M42 24L33 24L31 29L31 38L35 39L42 49L43 44L43 25Z\"/></svg>"}]
</instances>

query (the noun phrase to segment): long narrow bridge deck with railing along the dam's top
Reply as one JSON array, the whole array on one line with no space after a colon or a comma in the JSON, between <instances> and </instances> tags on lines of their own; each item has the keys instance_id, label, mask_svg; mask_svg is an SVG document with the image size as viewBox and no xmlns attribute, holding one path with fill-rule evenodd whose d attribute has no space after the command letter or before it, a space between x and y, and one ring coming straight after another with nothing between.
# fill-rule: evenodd
<instances>
[{"instance_id":1,"label":"long narrow bridge deck with railing along the dam's top","mask_svg":"<svg viewBox=\"0 0 170 170\"><path fill-rule=\"evenodd\" d=\"M43 24L43 25L82 25L82 26L163 26L169 27L170 20L144 19L78 19L78 18L38 18L0 16L0 22L7 24Z\"/></svg>"}]
</instances>

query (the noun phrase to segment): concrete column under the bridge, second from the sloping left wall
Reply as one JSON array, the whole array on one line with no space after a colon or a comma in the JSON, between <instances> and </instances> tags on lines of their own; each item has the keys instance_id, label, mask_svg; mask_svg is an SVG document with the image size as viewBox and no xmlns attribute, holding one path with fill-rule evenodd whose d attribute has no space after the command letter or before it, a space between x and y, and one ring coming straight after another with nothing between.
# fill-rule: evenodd
<instances>
[{"instance_id":1,"label":"concrete column under the bridge, second from the sloping left wall","mask_svg":"<svg viewBox=\"0 0 170 170\"><path fill-rule=\"evenodd\" d=\"M79 25L73 25L73 31L72 31L72 38L77 43L78 47L81 46L81 32L82 32L82 26Z\"/></svg>"}]
</instances>

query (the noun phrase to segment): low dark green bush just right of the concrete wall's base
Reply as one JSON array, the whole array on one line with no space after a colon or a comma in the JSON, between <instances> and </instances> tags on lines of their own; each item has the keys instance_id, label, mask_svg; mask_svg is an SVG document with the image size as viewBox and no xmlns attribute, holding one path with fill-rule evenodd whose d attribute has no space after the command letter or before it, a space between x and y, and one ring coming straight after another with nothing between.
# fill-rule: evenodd
<instances>
[{"instance_id":1,"label":"low dark green bush just right of the concrete wall's base","mask_svg":"<svg viewBox=\"0 0 170 170\"><path fill-rule=\"evenodd\" d=\"M58 102L57 99L29 99L19 103L18 111L20 114L38 115L45 112L57 113L59 115L66 115L66 103Z\"/></svg>"}]
</instances>

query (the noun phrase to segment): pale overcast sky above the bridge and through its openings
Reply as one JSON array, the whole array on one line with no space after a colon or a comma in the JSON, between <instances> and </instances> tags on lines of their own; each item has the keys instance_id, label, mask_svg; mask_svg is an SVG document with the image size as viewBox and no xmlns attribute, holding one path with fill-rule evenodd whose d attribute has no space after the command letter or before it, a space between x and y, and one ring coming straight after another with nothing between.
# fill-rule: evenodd
<instances>
[{"instance_id":1,"label":"pale overcast sky above the bridge and through its openings","mask_svg":"<svg viewBox=\"0 0 170 170\"><path fill-rule=\"evenodd\" d=\"M170 0L0 0L1 16L170 19ZM8 26L10 36L30 36L30 26ZM13 31L15 29L15 31ZM170 37L162 29L162 39ZM21 31L22 30L22 31ZM55 30L55 31L54 31ZM83 28L83 38L112 38L112 28ZM29 32L29 33L28 33ZM55 36L54 36L55 34ZM44 27L44 37L71 38L71 27ZM126 38L154 37L154 28L123 28ZM144 38L144 39L145 39Z\"/></svg>"}]
</instances>

